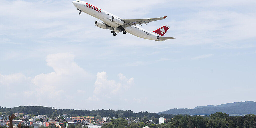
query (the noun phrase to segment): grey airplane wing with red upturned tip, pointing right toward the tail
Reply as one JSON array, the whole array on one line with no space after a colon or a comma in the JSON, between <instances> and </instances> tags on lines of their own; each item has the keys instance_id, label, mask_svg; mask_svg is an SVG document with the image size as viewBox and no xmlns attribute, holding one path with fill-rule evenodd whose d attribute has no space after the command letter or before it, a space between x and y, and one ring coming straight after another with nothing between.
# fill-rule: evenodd
<instances>
[{"instance_id":1,"label":"grey airplane wing with red upturned tip, pointing right toward the tail","mask_svg":"<svg viewBox=\"0 0 256 128\"><path fill-rule=\"evenodd\" d=\"M149 18L149 19L122 19L124 21L124 23L126 24L124 26L124 28L126 27L131 27L131 25L141 25L141 24L147 24L149 22L152 22L152 21L156 21L156 20L161 20L161 19L165 19L167 16L164 16L164 17L159 17L159 18Z\"/></svg>"}]
</instances>

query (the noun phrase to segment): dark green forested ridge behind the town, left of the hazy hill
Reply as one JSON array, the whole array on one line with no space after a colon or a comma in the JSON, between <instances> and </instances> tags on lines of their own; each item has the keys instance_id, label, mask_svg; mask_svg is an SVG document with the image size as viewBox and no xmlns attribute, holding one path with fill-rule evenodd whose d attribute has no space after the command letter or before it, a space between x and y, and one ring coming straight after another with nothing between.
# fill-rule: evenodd
<instances>
[{"instance_id":1,"label":"dark green forested ridge behind the town, left of the hazy hill","mask_svg":"<svg viewBox=\"0 0 256 128\"><path fill-rule=\"evenodd\" d=\"M165 116L166 118L173 118L175 115L172 114L161 114L158 115L156 113L150 112L138 112L135 113L131 110L74 110L74 109L55 109L54 107L45 107L45 106L18 106L14 108L4 108L0 106L0 113L5 113L11 115L12 113L26 113L26 114L44 114L47 116L56 116L62 114L69 114L73 117L76 116L97 116L100 115L101 117L105 116L123 116L123 117L141 117L143 118L144 115L148 117L154 116L155 118L159 118L161 116Z\"/></svg>"}]
</instances>

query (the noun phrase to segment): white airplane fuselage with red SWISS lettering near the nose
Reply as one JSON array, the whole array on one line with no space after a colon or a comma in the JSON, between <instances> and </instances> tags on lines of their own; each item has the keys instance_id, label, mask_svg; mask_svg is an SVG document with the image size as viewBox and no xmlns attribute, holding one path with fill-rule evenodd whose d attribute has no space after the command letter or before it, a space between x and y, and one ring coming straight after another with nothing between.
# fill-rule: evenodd
<instances>
[{"instance_id":1,"label":"white airplane fuselage with red SWISS lettering near the nose","mask_svg":"<svg viewBox=\"0 0 256 128\"><path fill-rule=\"evenodd\" d=\"M105 10L103 10L101 8L98 8L97 6L91 5L84 1L79 1L79 2L73 1L72 3L74 4L74 6L77 7L77 9L81 10L82 12L87 13L95 18L98 18L101 21L103 21L105 24L115 28L114 29L115 32L117 32L117 33L120 32L119 30L116 30L116 27L119 27L120 25L115 24L114 22L112 22L110 20L112 17L119 18L118 16L115 16L109 12L106 12ZM119 19L121 19L121 18L119 18ZM152 33L151 31L147 31L138 26L131 25L131 27L126 27L124 29L127 33L130 33L130 34L140 37L140 38L149 39L149 40L157 40L157 41L159 40L159 39L157 39L157 37L159 37L159 35Z\"/></svg>"}]
</instances>

